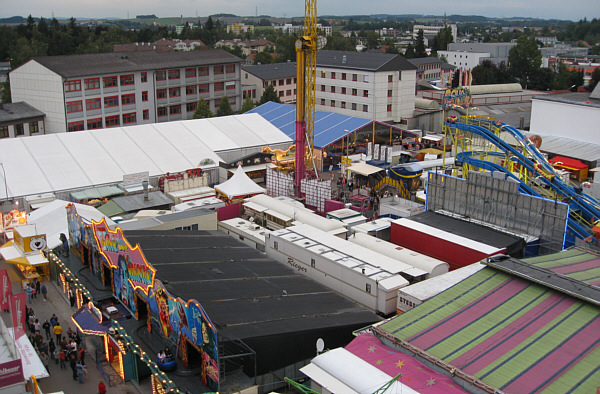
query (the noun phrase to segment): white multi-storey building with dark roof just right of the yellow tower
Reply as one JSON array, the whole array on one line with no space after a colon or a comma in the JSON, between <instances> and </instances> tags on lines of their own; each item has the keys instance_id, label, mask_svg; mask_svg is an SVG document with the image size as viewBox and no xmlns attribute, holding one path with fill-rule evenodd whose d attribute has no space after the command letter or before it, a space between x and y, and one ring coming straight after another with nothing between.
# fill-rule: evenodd
<instances>
[{"instance_id":1,"label":"white multi-storey building with dark roof just right of the yellow tower","mask_svg":"<svg viewBox=\"0 0 600 394\"><path fill-rule=\"evenodd\" d=\"M315 108L406 123L415 109L416 74L401 55L319 51Z\"/></svg>"}]
</instances>

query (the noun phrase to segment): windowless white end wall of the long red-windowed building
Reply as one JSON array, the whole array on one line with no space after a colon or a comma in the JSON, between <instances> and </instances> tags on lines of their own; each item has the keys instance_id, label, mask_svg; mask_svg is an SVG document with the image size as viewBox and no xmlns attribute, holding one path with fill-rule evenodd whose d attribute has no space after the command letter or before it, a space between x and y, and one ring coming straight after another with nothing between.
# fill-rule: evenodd
<instances>
[{"instance_id":1,"label":"windowless white end wall of the long red-windowed building","mask_svg":"<svg viewBox=\"0 0 600 394\"><path fill-rule=\"evenodd\" d=\"M46 114L46 134L66 130L62 77L31 60L10 74L13 103L24 101Z\"/></svg>"}]
</instances>

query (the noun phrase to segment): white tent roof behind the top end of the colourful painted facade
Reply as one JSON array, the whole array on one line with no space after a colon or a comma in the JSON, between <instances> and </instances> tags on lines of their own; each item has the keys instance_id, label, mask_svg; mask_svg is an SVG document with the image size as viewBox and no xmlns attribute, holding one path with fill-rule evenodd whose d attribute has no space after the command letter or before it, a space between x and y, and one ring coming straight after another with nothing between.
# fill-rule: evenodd
<instances>
[{"instance_id":1,"label":"white tent roof behind the top end of the colourful painted facade","mask_svg":"<svg viewBox=\"0 0 600 394\"><path fill-rule=\"evenodd\" d=\"M60 233L69 233L67 210L65 209L68 204L68 201L54 200L27 215L27 223L35 224L37 234L46 234L46 242L50 249L54 249L62 244L58 238ZM89 205L74 205L79 216L90 223L92 220L99 222L105 217L100 211ZM109 227L115 225L115 222L109 218L106 218L106 223Z\"/></svg>"}]
</instances>

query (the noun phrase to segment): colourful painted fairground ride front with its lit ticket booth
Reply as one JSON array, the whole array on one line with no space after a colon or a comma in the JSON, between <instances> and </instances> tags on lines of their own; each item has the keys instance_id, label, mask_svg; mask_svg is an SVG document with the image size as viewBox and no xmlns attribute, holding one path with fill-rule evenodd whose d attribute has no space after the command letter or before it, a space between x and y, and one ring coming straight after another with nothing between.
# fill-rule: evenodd
<instances>
[{"instance_id":1,"label":"colourful painted fairground ride front with its lit ticket booth","mask_svg":"<svg viewBox=\"0 0 600 394\"><path fill-rule=\"evenodd\" d=\"M136 331L156 333L184 367L190 359L200 360L200 379L206 391L219 389L217 336L202 306L195 300L172 295L156 279L156 270L148 263L138 245L132 246L120 228L111 229L101 222L82 219L73 204L67 206L71 251L81 256L94 276L112 290L113 302L93 300L87 289L63 262L51 257L57 281L63 291L77 294L78 311L73 321L78 329L99 336L97 355L110 364L125 381L150 376L153 392L179 392L177 384L159 368L156 355L144 351L123 325L140 322ZM91 302L93 301L93 302ZM135 317L133 319L132 317ZM155 349L164 349L161 345ZM108 376L109 382L115 377Z\"/></svg>"}]
</instances>

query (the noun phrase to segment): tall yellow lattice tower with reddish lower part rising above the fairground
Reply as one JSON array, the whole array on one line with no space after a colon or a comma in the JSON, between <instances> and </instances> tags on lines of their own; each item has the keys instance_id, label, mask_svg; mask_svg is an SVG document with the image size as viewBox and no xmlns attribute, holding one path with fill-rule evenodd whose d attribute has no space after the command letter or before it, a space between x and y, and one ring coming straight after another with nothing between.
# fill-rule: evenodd
<instances>
[{"instance_id":1,"label":"tall yellow lattice tower with reddish lower part rising above the fairground","mask_svg":"<svg viewBox=\"0 0 600 394\"><path fill-rule=\"evenodd\" d=\"M317 50L324 43L317 37L317 0L304 2L304 32L296 40L296 158L294 183L301 197L301 182L313 162L315 129L315 81ZM316 169L315 169L316 170Z\"/></svg>"}]
</instances>

